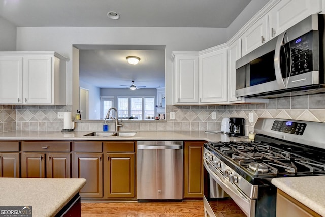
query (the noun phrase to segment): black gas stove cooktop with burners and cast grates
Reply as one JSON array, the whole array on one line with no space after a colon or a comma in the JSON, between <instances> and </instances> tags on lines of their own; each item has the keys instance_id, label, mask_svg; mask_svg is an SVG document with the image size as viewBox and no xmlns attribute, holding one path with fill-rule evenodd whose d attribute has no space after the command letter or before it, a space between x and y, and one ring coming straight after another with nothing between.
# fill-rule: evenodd
<instances>
[{"instance_id":1,"label":"black gas stove cooktop with burners and cast grates","mask_svg":"<svg viewBox=\"0 0 325 217\"><path fill-rule=\"evenodd\" d=\"M325 174L325 163L263 142L205 143L237 172L251 177L297 176ZM229 165L231 166L231 165Z\"/></svg>"}]
</instances>

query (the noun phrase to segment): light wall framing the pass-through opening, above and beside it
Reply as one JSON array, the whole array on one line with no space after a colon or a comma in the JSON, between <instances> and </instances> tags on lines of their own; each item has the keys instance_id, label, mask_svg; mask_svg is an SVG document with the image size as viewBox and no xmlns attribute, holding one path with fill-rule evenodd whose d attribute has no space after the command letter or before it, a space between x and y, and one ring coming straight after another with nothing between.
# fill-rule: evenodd
<instances>
[{"instance_id":1,"label":"light wall framing the pass-through opening, above and beside it","mask_svg":"<svg viewBox=\"0 0 325 217\"><path fill-rule=\"evenodd\" d=\"M19 27L18 51L54 50L68 58L72 76L73 44L166 45L166 103L172 101L172 51L200 51L226 42L225 28ZM76 82L75 80L73 82ZM72 88L70 86L70 88ZM73 87L76 88L76 87ZM77 87L79 88L79 87ZM68 91L72 96L72 89ZM68 96L68 104L72 104Z\"/></svg>"}]
</instances>

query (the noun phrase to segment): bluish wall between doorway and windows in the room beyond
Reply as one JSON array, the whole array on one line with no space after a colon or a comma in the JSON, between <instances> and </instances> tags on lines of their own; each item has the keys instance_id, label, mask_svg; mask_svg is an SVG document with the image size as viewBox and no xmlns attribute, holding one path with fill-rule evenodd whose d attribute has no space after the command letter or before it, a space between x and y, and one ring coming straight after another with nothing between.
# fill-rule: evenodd
<instances>
[{"instance_id":1,"label":"bluish wall between doorway and windows in the room beyond","mask_svg":"<svg viewBox=\"0 0 325 217\"><path fill-rule=\"evenodd\" d=\"M80 81L80 87L89 90L89 120L101 119L101 89ZM76 111L73 111L73 113Z\"/></svg>"}]
</instances>

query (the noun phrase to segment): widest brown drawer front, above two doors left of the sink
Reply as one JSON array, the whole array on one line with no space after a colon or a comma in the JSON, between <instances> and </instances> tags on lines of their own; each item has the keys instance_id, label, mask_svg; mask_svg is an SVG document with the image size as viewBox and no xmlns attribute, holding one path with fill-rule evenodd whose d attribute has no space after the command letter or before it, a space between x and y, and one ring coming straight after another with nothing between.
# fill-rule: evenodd
<instances>
[{"instance_id":1,"label":"widest brown drawer front, above two doors left of the sink","mask_svg":"<svg viewBox=\"0 0 325 217\"><path fill-rule=\"evenodd\" d=\"M21 150L33 152L70 152L71 142L23 141Z\"/></svg>"}]
</instances>

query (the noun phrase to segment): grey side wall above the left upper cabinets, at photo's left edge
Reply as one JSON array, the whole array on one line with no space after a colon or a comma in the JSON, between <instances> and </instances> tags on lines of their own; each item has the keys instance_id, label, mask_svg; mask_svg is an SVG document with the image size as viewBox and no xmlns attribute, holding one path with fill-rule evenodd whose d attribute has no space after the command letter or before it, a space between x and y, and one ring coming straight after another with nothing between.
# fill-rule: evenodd
<instances>
[{"instance_id":1,"label":"grey side wall above the left upper cabinets, at photo's left edge","mask_svg":"<svg viewBox=\"0 0 325 217\"><path fill-rule=\"evenodd\" d=\"M1 17L0 51L16 51L16 26Z\"/></svg>"}]
</instances>

